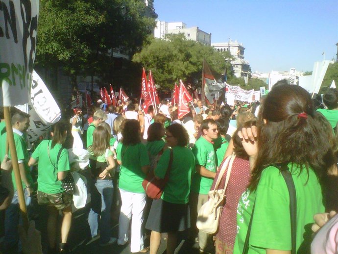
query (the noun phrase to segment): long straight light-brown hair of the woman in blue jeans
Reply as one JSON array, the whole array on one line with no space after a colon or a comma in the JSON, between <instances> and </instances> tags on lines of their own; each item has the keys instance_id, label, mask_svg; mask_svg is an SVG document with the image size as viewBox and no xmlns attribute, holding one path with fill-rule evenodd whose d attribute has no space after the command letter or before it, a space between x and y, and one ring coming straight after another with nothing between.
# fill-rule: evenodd
<instances>
[{"instance_id":1,"label":"long straight light-brown hair of the woman in blue jeans","mask_svg":"<svg viewBox=\"0 0 338 254\"><path fill-rule=\"evenodd\" d=\"M94 156L100 156L109 148L110 133L102 125L95 128L93 132L93 145L89 148Z\"/></svg>"}]
</instances>

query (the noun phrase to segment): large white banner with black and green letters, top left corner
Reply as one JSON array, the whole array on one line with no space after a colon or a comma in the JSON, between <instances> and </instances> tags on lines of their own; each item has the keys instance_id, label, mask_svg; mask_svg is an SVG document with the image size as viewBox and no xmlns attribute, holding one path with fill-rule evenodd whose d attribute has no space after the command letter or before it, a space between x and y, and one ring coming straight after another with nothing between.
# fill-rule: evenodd
<instances>
[{"instance_id":1,"label":"large white banner with black and green letters, top left corner","mask_svg":"<svg viewBox=\"0 0 338 254\"><path fill-rule=\"evenodd\" d=\"M39 0L0 0L0 101L28 102L36 51Z\"/></svg>"}]
</instances>

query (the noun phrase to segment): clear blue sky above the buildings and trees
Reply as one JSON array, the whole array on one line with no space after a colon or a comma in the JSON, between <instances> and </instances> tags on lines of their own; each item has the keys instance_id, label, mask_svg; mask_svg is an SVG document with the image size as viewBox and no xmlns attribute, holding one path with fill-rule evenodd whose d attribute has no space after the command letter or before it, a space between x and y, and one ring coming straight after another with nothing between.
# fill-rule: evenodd
<instances>
[{"instance_id":1,"label":"clear blue sky above the buildings and trees","mask_svg":"<svg viewBox=\"0 0 338 254\"><path fill-rule=\"evenodd\" d=\"M243 44L251 70L312 71L336 58L338 0L155 0L160 21L183 22Z\"/></svg>"}]
</instances>

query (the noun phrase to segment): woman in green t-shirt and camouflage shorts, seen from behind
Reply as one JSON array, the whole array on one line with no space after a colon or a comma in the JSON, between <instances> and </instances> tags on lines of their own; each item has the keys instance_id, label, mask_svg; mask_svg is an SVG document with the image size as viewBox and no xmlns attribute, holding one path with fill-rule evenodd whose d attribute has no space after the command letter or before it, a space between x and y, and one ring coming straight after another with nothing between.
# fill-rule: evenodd
<instances>
[{"instance_id":1,"label":"woman in green t-shirt and camouflage shorts, seen from behind","mask_svg":"<svg viewBox=\"0 0 338 254\"><path fill-rule=\"evenodd\" d=\"M42 141L35 149L28 165L38 164L38 203L48 210L48 254L58 253L56 248L57 219L62 211L60 253L68 253L68 233L72 222L72 195L65 192L61 180L70 170L68 152L62 148L67 136L67 124L53 125L51 140Z\"/></svg>"}]
</instances>

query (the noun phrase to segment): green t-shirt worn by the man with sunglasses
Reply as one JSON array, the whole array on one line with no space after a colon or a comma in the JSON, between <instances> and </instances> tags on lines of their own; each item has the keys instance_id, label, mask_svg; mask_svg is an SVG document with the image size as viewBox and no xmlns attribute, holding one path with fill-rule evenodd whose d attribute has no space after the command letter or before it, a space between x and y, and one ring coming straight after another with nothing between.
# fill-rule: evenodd
<instances>
[{"instance_id":1,"label":"green t-shirt worn by the man with sunglasses","mask_svg":"<svg viewBox=\"0 0 338 254\"><path fill-rule=\"evenodd\" d=\"M193 155L196 158L195 165L201 165L209 171L216 172L216 153L213 143L210 143L204 137L200 137L193 146ZM202 177L195 172L191 190L199 194L208 194L213 181L213 178Z\"/></svg>"}]
</instances>

